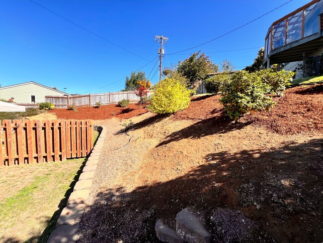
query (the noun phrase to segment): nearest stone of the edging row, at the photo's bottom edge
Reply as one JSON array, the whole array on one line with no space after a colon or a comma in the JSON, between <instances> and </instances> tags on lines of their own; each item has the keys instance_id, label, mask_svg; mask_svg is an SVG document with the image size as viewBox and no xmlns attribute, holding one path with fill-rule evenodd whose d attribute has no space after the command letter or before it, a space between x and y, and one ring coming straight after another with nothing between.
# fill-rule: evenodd
<instances>
[{"instance_id":1,"label":"nearest stone of the edging row, at the photo's bottom edge","mask_svg":"<svg viewBox=\"0 0 323 243\"><path fill-rule=\"evenodd\" d=\"M76 234L79 229L79 224L61 225L52 232L47 243L74 243L80 237L79 234Z\"/></svg>"}]
</instances>

